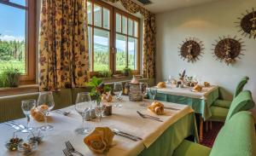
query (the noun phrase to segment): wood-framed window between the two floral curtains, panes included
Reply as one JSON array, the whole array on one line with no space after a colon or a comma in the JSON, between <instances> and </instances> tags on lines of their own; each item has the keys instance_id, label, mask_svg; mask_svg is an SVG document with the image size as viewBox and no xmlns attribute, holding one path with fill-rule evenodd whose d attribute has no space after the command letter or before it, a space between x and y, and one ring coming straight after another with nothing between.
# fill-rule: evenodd
<instances>
[{"instance_id":1,"label":"wood-framed window between the two floral curtains, panes included","mask_svg":"<svg viewBox=\"0 0 256 156\"><path fill-rule=\"evenodd\" d=\"M139 72L139 19L108 3L87 3L91 73Z\"/></svg>"}]
</instances>

